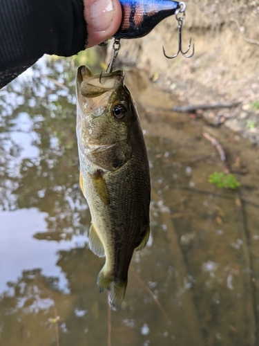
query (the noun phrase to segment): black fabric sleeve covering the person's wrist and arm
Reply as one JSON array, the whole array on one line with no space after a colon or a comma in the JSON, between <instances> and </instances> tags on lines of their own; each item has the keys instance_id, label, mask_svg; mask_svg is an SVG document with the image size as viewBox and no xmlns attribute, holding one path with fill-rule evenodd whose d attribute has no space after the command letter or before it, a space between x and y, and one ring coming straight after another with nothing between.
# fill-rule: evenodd
<instances>
[{"instance_id":1,"label":"black fabric sleeve covering the person's wrist and arm","mask_svg":"<svg viewBox=\"0 0 259 346\"><path fill-rule=\"evenodd\" d=\"M0 0L0 89L46 54L84 49L83 0Z\"/></svg>"}]
</instances>

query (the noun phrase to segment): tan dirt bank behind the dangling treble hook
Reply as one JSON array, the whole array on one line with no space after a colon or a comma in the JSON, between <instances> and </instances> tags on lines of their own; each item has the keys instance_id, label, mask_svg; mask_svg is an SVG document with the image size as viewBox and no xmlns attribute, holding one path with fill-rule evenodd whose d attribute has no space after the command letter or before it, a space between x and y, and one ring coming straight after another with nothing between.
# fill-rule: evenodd
<instances>
[{"instance_id":1,"label":"tan dirt bank behind the dangling treble hook","mask_svg":"<svg viewBox=\"0 0 259 346\"><path fill-rule=\"evenodd\" d=\"M119 60L148 73L178 104L240 102L195 116L258 144L259 1L191 0L186 5L183 49L192 37L193 57L164 57L162 46L167 55L178 49L178 22L169 17L144 38L123 40Z\"/></svg>"}]
</instances>

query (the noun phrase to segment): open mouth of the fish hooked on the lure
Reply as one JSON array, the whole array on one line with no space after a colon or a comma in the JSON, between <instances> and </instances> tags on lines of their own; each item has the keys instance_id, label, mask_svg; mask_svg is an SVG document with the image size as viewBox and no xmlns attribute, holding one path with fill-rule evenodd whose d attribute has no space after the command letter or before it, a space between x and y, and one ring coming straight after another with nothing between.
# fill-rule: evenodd
<instances>
[{"instance_id":1,"label":"open mouth of the fish hooked on the lure","mask_svg":"<svg viewBox=\"0 0 259 346\"><path fill-rule=\"evenodd\" d=\"M117 89L124 83L124 72L93 75L88 67L82 65L77 69L77 96L96 98L99 95Z\"/></svg>"}]
</instances>

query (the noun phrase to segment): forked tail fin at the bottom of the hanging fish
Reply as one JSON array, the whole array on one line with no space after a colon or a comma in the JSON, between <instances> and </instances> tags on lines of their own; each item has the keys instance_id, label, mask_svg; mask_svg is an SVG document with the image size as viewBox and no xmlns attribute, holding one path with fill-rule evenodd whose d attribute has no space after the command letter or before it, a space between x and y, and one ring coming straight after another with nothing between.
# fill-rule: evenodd
<instances>
[{"instance_id":1,"label":"forked tail fin at the bottom of the hanging fish","mask_svg":"<svg viewBox=\"0 0 259 346\"><path fill-rule=\"evenodd\" d=\"M127 287L128 279L126 280L116 280L113 281L107 277L104 273L104 268L99 272L97 278L97 285L99 287L100 292L109 290L108 300L110 307L113 310L119 309L120 304L122 304L122 300L124 298L126 287Z\"/></svg>"}]
</instances>

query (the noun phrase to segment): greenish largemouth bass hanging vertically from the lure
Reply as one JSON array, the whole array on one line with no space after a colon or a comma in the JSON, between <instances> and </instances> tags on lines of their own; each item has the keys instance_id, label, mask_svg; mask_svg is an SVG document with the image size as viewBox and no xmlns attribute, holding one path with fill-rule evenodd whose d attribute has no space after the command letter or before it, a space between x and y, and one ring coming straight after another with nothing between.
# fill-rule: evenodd
<instances>
[{"instance_id":1,"label":"greenish largemouth bass hanging vertically from the lure","mask_svg":"<svg viewBox=\"0 0 259 346\"><path fill-rule=\"evenodd\" d=\"M97 278L111 308L124 299L134 250L149 237L150 177L144 136L124 73L77 70L80 185L92 222L89 247L106 262Z\"/></svg>"}]
</instances>

